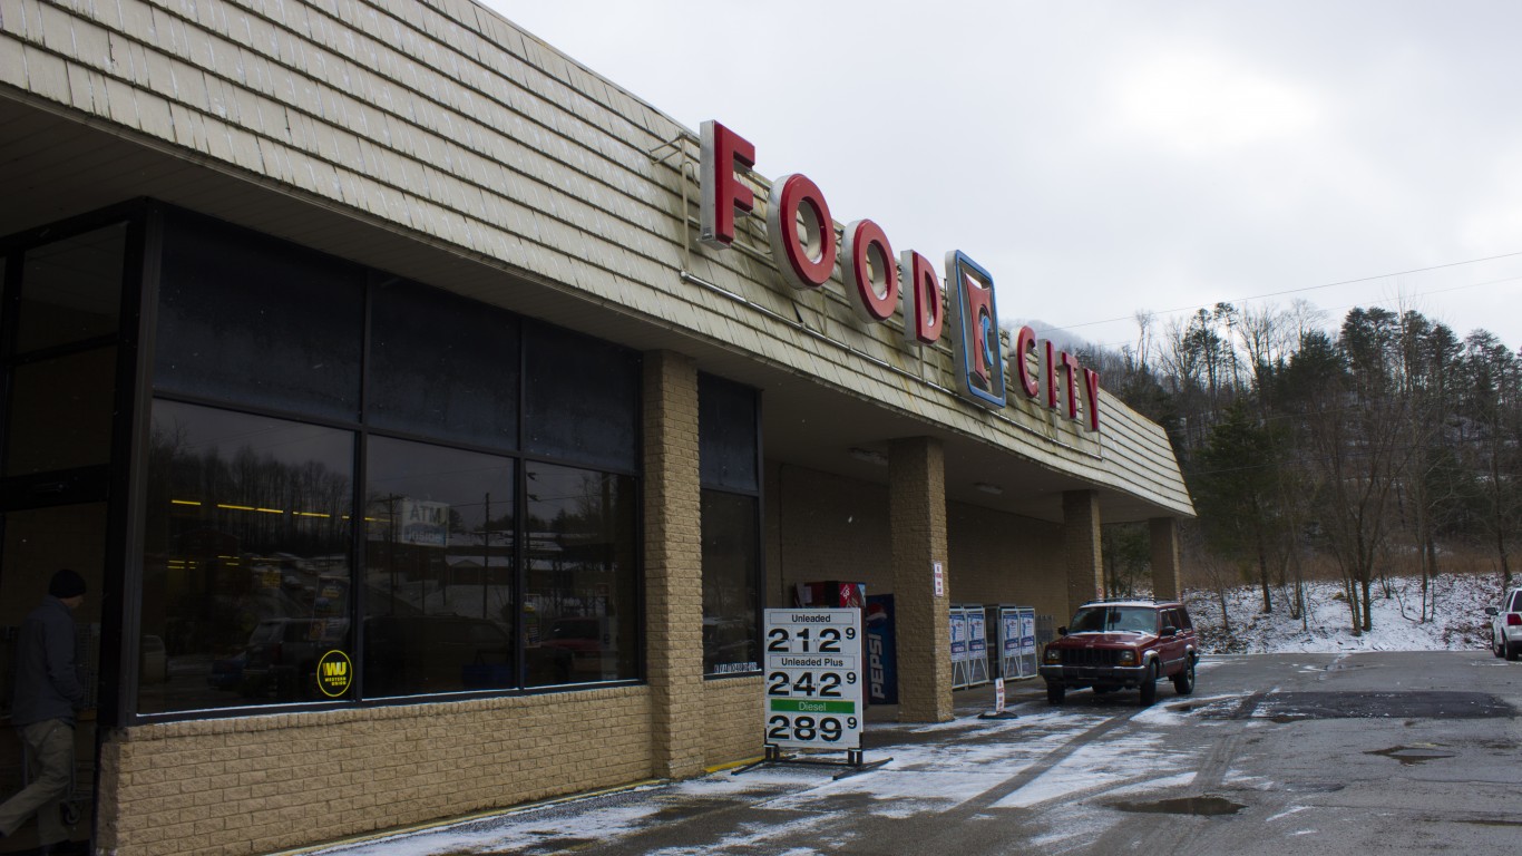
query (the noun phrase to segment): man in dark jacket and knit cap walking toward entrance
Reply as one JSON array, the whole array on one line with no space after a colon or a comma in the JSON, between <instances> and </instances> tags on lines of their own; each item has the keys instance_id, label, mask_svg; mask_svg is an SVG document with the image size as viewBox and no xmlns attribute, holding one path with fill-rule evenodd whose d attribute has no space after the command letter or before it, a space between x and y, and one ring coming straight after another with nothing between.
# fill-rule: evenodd
<instances>
[{"instance_id":1,"label":"man in dark jacket and knit cap walking toward entrance","mask_svg":"<svg viewBox=\"0 0 1522 856\"><path fill-rule=\"evenodd\" d=\"M0 838L37 813L41 853L67 853L68 830L59 804L73 784L75 713L85 688L75 666L73 611L85 600L85 580L64 568L47 583L47 597L26 617L17 643L15 704L11 723L32 752L32 783L0 804Z\"/></svg>"}]
</instances>

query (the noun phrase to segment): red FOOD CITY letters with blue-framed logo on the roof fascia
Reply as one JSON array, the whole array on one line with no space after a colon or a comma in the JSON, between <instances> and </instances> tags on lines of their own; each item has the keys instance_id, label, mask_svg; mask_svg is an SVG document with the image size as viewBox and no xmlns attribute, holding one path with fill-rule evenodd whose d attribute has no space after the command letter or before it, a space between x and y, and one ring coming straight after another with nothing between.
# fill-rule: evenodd
<instances>
[{"instance_id":1,"label":"red FOOD CITY letters with blue-framed logo on the roof fascia","mask_svg":"<svg viewBox=\"0 0 1522 856\"><path fill-rule=\"evenodd\" d=\"M709 247L735 241L735 212L755 210L755 193L741 175L755 166L755 146L718 122L703 122L702 233ZM904 303L904 341L936 344L947 327L954 337L957 391L992 410L1008 404L1008 378L1017 394L1099 431L1099 373L1087 369L1030 327L1015 334L1006 355L998 338L994 277L960 250L945 254L947 297L928 259L913 250L896 257L883 228L871 219L846 224L836 238L829 206L819 186L802 174L772 183L767 200L767 242L782 279L796 289L817 289L840 262L846 299L864 323L887 323ZM945 303L950 303L947 306ZM1036 370L1030 370L1035 353Z\"/></svg>"}]
</instances>

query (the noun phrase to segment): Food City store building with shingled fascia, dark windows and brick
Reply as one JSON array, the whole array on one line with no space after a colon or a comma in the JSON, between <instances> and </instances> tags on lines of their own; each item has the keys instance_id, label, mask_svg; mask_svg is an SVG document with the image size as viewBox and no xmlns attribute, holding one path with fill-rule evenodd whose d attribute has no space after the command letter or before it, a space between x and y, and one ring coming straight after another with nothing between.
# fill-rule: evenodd
<instances>
[{"instance_id":1,"label":"Food City store building with shingled fascia, dark windows and brick","mask_svg":"<svg viewBox=\"0 0 1522 856\"><path fill-rule=\"evenodd\" d=\"M759 611L805 582L895 594L919 720L948 605L1065 612L1102 519L1177 586L1161 430L992 335L997 271L486 9L0 0L0 714L78 570L100 851L753 757Z\"/></svg>"}]
</instances>

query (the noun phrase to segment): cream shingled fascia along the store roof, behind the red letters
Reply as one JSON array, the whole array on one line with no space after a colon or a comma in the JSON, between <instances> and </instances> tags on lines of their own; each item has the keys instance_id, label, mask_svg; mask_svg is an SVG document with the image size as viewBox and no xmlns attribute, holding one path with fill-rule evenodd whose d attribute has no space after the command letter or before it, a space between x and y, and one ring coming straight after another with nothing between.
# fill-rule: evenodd
<instances>
[{"instance_id":1,"label":"cream shingled fascia along the store roof, behind the red letters","mask_svg":"<svg viewBox=\"0 0 1522 856\"><path fill-rule=\"evenodd\" d=\"M686 248L697 184L647 152L679 140L696 158L689 131L473 3L0 0L0 79L29 96L1189 512L1166 437L1114 399L1102 404L1102 442L1023 401L991 414L948 391L948 347L904 346L896 317L861 323L839 279L825 294L781 285L755 218L741 242L756 251ZM764 181L755 189L759 209ZM744 300L683 282L688 257Z\"/></svg>"}]
</instances>

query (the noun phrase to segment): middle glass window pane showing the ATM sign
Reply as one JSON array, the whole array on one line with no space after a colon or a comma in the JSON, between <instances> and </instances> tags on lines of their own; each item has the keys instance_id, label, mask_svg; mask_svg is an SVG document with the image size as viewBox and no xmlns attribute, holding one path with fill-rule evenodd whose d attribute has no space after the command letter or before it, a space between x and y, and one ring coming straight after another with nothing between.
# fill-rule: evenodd
<instances>
[{"instance_id":1,"label":"middle glass window pane showing the ATM sign","mask_svg":"<svg viewBox=\"0 0 1522 856\"><path fill-rule=\"evenodd\" d=\"M371 437L367 696L517 685L511 458Z\"/></svg>"}]
</instances>

